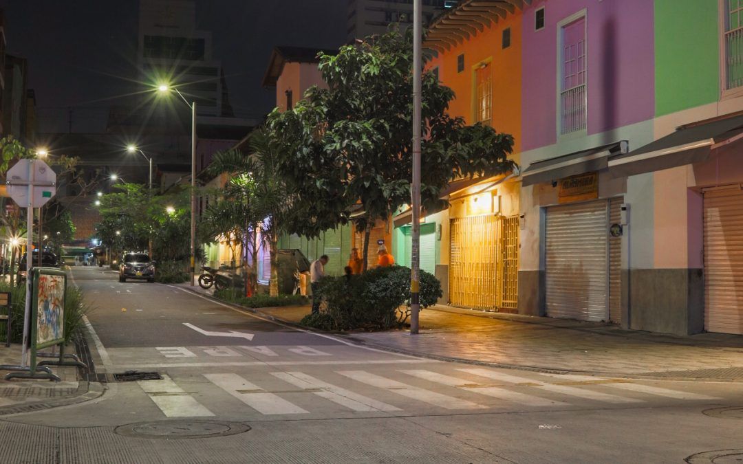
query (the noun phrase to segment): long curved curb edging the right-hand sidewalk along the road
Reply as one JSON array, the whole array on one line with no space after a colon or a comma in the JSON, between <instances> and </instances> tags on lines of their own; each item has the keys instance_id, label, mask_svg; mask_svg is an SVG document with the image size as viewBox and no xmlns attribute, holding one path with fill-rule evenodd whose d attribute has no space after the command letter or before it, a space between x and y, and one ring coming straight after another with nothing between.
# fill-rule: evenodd
<instances>
[{"instance_id":1,"label":"long curved curb edging the right-hand sidewalk along the road","mask_svg":"<svg viewBox=\"0 0 743 464\"><path fill-rule=\"evenodd\" d=\"M459 363L468 364L468 365L477 365L477 366L483 366L483 367L496 367L499 369L526 370L526 371L531 371L531 372L536 372L536 373L557 373L557 374L568 374L568 373L579 374L580 373L583 375L591 375L591 376L604 376L604 377L610 376L610 377L614 377L617 379L663 380L663 381L672 381L672 382L743 383L743 379L717 379L714 377L651 376L651 375L630 374L630 373L611 373L607 371L570 370L570 369L562 369L562 368L555 368L555 367L516 365L516 364L507 364L507 363L501 363L501 362L478 361L477 359L465 359L465 358L457 358L455 356L442 356L442 355L436 355L436 354L431 354L431 353L421 353L421 352L417 352L413 350L406 350L406 349L398 348L398 347L390 347L385 344L369 342L367 340L358 339L354 336L348 335L347 333L331 332L331 331L325 331L325 330L317 330L317 329L313 329L310 327L304 327L299 324L296 324L295 322L286 321L282 318L278 318L276 316L263 313L260 310L260 308L244 307L239 304L230 303L228 301L222 301L218 298L213 297L212 295L204 295L203 293L199 293L195 290L191 290L186 287L181 287L181 288L184 288L184 290L194 295L203 296L204 298L209 298L212 301L216 301L221 304L227 304L229 306L239 308L240 310L248 311L250 313L262 316L263 318L267 318L271 321L280 322L281 324L285 324L289 327L293 327L299 330L303 330L303 331L310 332L310 333L322 334L322 335L337 336L339 338L345 339L346 342L349 342L351 344L356 344L358 346L371 347L376 350L383 350L389 353L404 354L406 356L415 356L415 357L423 358L423 359L431 359L433 361L459 362Z\"/></svg>"}]
</instances>

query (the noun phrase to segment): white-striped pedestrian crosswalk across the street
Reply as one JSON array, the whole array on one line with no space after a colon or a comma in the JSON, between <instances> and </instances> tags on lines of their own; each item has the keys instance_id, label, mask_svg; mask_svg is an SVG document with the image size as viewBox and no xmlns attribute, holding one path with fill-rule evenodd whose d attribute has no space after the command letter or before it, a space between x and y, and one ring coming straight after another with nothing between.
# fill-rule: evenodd
<instances>
[{"instance_id":1,"label":"white-striped pedestrian crosswalk across the street","mask_svg":"<svg viewBox=\"0 0 743 464\"><path fill-rule=\"evenodd\" d=\"M518 371L514 371L518 373ZM603 404L640 405L658 399L716 401L719 398L627 379L506 373L484 367L458 367L441 373L424 369L323 370L322 373L277 371L204 373L184 380L197 391L185 391L178 379L137 382L167 417L201 417L247 406L247 414L307 416L328 411L406 414L431 408L441 411L488 411L503 408L563 408ZM204 382L204 379L207 382ZM225 394L226 393L226 394ZM215 396L222 396L220 402ZM231 399L225 403L224 399ZM237 400L237 401L235 401ZM202 405L200 402L207 403ZM215 404L209 404L214 402ZM234 404L233 404L234 403Z\"/></svg>"}]
</instances>

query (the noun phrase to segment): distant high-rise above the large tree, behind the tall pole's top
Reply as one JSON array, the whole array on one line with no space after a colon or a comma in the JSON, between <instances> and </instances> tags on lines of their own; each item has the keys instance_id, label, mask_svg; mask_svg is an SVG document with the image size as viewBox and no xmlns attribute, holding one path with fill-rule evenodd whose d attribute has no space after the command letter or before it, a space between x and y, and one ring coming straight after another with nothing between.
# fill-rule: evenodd
<instances>
[{"instance_id":1,"label":"distant high-rise above the large tree, behind the tall pole's top","mask_svg":"<svg viewBox=\"0 0 743 464\"><path fill-rule=\"evenodd\" d=\"M436 16L457 4L455 0L423 0L424 24L430 24ZM371 34L387 31L389 24L412 22L413 4L410 0L349 0L348 42L363 39Z\"/></svg>"}]
</instances>

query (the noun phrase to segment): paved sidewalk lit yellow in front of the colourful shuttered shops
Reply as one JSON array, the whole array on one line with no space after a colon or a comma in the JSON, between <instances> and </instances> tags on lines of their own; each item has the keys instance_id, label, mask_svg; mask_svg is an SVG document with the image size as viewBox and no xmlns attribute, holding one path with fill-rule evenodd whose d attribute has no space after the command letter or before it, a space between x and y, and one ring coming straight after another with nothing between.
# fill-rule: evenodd
<instances>
[{"instance_id":1,"label":"paved sidewalk lit yellow in front of the colourful shuttered shops","mask_svg":"<svg viewBox=\"0 0 743 464\"><path fill-rule=\"evenodd\" d=\"M259 310L296 323L309 307ZM350 333L351 339L421 356L539 370L618 376L743 380L743 337L678 337L607 324L436 307L421 312L421 333Z\"/></svg>"}]
</instances>

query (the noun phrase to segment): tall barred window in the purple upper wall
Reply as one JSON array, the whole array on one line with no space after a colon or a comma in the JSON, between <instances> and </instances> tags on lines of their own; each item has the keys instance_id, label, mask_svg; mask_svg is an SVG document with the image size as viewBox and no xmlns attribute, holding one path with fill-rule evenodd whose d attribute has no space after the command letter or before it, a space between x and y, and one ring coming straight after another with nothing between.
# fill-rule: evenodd
<instances>
[{"instance_id":1,"label":"tall barred window in the purple upper wall","mask_svg":"<svg viewBox=\"0 0 743 464\"><path fill-rule=\"evenodd\" d=\"M585 130L585 16L560 27L560 134Z\"/></svg>"}]
</instances>

